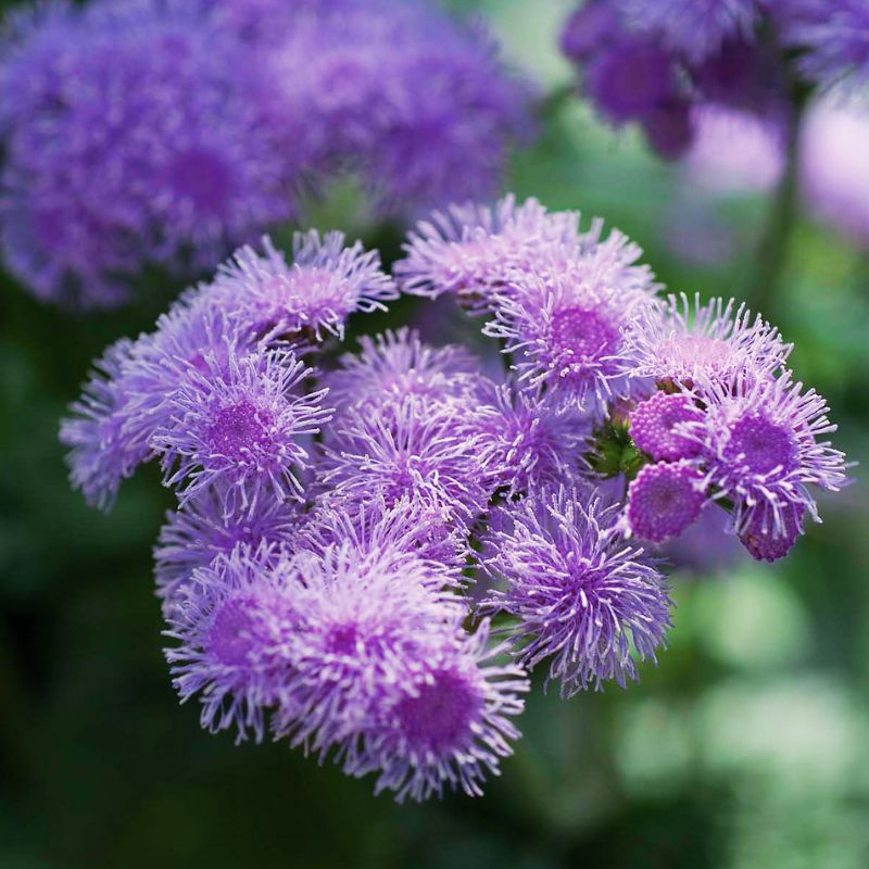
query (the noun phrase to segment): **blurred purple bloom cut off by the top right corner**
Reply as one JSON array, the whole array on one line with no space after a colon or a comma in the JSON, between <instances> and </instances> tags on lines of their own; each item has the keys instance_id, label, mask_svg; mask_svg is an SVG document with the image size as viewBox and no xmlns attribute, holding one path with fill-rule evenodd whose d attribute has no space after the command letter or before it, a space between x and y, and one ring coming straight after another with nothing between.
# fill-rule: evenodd
<instances>
[{"instance_id":1,"label":"blurred purple bloom cut off by the top right corner","mask_svg":"<svg viewBox=\"0 0 869 869\"><path fill-rule=\"evenodd\" d=\"M783 0L770 4L799 66L822 86L869 80L869 7L864 0Z\"/></svg>"}]
</instances>

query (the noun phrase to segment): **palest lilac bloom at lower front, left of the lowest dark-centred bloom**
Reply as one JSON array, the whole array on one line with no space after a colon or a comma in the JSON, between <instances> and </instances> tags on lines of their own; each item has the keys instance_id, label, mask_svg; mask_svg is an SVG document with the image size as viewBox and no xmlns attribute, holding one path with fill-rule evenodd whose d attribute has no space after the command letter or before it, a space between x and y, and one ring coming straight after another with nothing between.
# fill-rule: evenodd
<instances>
[{"instance_id":1,"label":"palest lilac bloom at lower front, left of the lowest dark-centred bloom","mask_svg":"<svg viewBox=\"0 0 869 869\"><path fill-rule=\"evenodd\" d=\"M322 756L352 753L390 684L454 643L465 607L443 591L449 571L394 546L331 545L293 567L292 675L273 729Z\"/></svg>"}]
</instances>

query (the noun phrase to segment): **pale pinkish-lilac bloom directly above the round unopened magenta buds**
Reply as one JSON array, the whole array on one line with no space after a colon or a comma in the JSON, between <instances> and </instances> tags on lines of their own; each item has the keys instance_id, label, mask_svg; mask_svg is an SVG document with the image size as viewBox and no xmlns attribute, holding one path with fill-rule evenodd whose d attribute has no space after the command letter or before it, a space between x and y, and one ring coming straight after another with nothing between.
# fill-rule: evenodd
<instances>
[{"instance_id":1,"label":"pale pinkish-lilac bloom directly above the round unopened magenta buds","mask_svg":"<svg viewBox=\"0 0 869 869\"><path fill-rule=\"evenodd\" d=\"M663 311L643 311L626 342L633 376L687 387L697 379L723 382L739 373L772 374L792 348L778 329L733 299L704 305L695 295L692 306L684 294L670 295Z\"/></svg>"}]
</instances>

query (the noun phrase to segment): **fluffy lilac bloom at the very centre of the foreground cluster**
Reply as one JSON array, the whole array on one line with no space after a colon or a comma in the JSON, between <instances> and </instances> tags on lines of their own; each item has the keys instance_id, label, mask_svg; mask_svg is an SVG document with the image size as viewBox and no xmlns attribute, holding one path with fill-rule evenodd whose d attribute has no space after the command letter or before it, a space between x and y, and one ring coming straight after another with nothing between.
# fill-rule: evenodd
<instances>
[{"instance_id":1,"label":"fluffy lilac bloom at the very centre of the foreground cluster","mask_svg":"<svg viewBox=\"0 0 869 869\"><path fill-rule=\"evenodd\" d=\"M470 519L489 499L476 438L452 407L412 398L373 415L350 408L324 448L322 481L341 498L388 507L402 498L449 507Z\"/></svg>"}]
</instances>

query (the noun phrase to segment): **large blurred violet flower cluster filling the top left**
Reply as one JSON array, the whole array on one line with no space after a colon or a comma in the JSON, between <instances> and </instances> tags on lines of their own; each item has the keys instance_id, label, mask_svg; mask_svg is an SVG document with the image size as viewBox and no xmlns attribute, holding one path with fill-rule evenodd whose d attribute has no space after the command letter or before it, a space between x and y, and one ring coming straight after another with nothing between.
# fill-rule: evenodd
<instances>
[{"instance_id":1,"label":"large blurred violet flower cluster filling the top left","mask_svg":"<svg viewBox=\"0 0 869 869\"><path fill-rule=\"evenodd\" d=\"M423 0L58 0L5 29L0 247L42 300L211 268L337 173L385 215L491 196L529 127L487 35Z\"/></svg>"}]
</instances>

